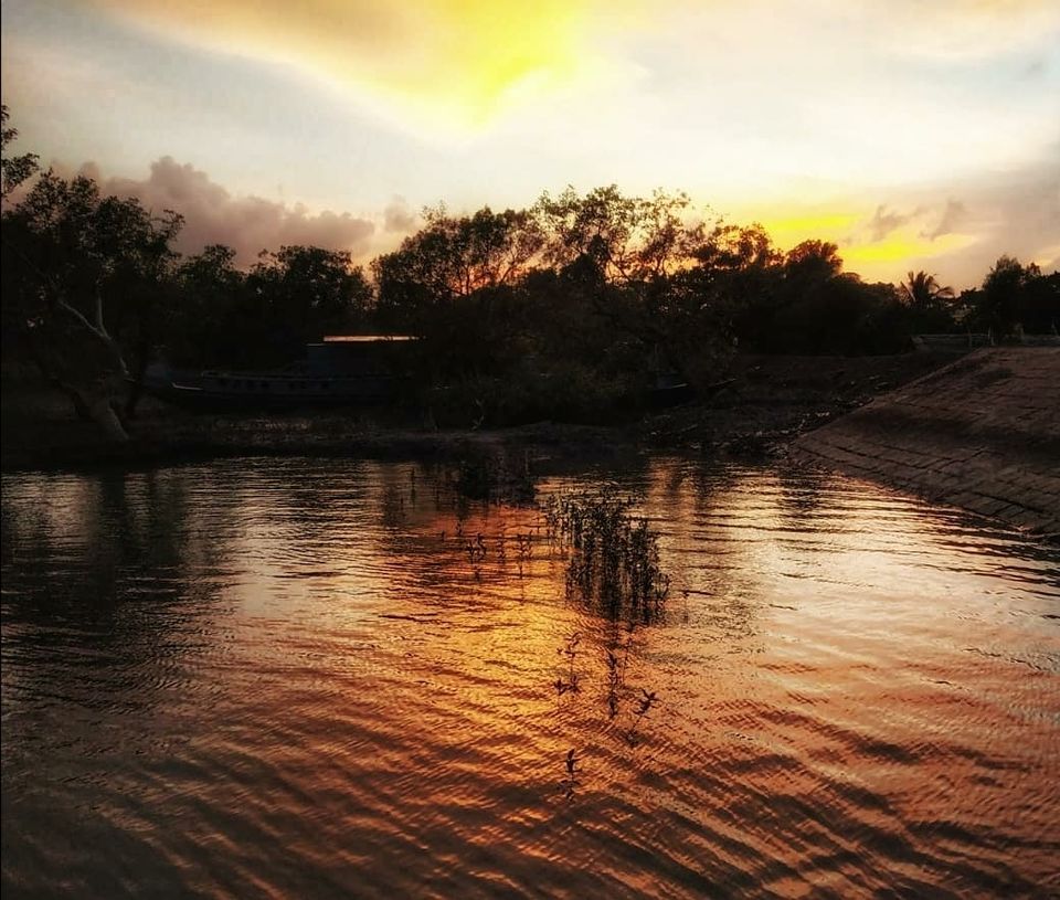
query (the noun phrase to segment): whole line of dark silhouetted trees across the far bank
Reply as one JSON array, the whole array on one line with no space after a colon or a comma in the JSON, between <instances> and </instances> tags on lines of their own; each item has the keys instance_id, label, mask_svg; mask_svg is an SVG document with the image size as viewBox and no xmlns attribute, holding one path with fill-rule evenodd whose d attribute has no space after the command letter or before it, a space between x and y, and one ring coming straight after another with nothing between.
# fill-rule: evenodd
<instances>
[{"instance_id":1,"label":"whole line of dark silhouetted trees across the far bank","mask_svg":"<svg viewBox=\"0 0 1060 900\"><path fill-rule=\"evenodd\" d=\"M241 268L223 245L178 254L174 212L10 157L7 107L2 137L4 354L33 360L115 436L153 360L277 367L325 333L417 335L417 388L441 390L454 421L488 395L505 423L606 416L664 371L706 388L738 350L887 353L916 332L1001 340L1060 324L1060 275L1032 264L1001 257L960 296L923 272L871 284L844 271L835 244L784 252L761 225L697 221L683 193L615 186L518 211L426 209L367 269L315 246Z\"/></svg>"}]
</instances>

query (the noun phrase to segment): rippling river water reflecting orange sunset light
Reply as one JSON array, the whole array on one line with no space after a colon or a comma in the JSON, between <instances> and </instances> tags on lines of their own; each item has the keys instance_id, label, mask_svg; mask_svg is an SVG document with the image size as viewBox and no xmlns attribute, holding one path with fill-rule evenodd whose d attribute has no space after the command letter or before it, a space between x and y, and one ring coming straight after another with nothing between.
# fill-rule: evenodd
<instances>
[{"instance_id":1,"label":"rippling river water reflecting orange sunset light","mask_svg":"<svg viewBox=\"0 0 1060 900\"><path fill-rule=\"evenodd\" d=\"M645 621L452 483L4 476L4 897L1060 892L1060 549L784 468L540 481L636 500Z\"/></svg>"}]
</instances>

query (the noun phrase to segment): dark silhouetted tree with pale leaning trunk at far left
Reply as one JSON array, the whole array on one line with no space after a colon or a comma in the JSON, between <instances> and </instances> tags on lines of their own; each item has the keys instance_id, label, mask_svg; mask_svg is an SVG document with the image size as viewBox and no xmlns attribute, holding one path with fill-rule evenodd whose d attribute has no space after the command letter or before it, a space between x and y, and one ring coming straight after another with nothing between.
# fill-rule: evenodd
<instances>
[{"instance_id":1,"label":"dark silhouetted tree with pale leaning trunk at far left","mask_svg":"<svg viewBox=\"0 0 1060 900\"><path fill-rule=\"evenodd\" d=\"M137 200L102 198L96 183L44 172L6 211L4 324L45 374L114 438L126 351L155 333L159 287L176 260L182 219ZM9 251L9 252L8 252Z\"/></svg>"}]
</instances>

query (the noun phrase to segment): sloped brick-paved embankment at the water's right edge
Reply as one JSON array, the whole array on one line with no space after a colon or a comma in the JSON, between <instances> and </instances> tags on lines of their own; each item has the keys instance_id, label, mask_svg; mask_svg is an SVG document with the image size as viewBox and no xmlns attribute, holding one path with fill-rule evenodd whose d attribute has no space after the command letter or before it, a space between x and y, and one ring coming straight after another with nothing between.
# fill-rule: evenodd
<instances>
[{"instance_id":1,"label":"sloped brick-paved embankment at the water's right edge","mask_svg":"<svg viewBox=\"0 0 1060 900\"><path fill-rule=\"evenodd\" d=\"M804 434L796 459L1060 539L1060 348L977 350Z\"/></svg>"}]
</instances>

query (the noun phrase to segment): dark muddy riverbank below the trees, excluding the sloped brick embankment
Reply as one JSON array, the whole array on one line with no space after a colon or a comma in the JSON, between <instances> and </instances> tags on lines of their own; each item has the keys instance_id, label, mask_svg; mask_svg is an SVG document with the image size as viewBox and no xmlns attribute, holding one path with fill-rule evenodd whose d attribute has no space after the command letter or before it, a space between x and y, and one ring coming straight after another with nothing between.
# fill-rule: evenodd
<instances>
[{"instance_id":1,"label":"dark muddy riverbank below the trees, excluding the sloped brick embankment","mask_svg":"<svg viewBox=\"0 0 1060 900\"><path fill-rule=\"evenodd\" d=\"M614 426L540 422L502 430L443 431L401 411L289 415L191 414L145 401L127 444L78 422L42 383L4 382L4 470L150 466L225 456L462 458L500 448L538 457L671 449L772 455L809 427L937 369L952 357L740 356L710 396Z\"/></svg>"}]
</instances>

